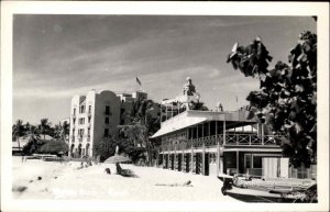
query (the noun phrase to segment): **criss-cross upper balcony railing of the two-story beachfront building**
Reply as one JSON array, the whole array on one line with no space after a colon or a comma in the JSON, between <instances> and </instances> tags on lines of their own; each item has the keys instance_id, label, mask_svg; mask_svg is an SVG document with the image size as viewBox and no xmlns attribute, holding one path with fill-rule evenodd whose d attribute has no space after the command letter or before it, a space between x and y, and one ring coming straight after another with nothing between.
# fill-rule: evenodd
<instances>
[{"instance_id":1,"label":"criss-cross upper balcony railing of the two-story beachfront building","mask_svg":"<svg viewBox=\"0 0 330 212\"><path fill-rule=\"evenodd\" d=\"M223 141L223 135L211 135L194 140L182 140L178 143L163 143L161 146L162 150L183 150L193 147L206 147L224 145L224 146L279 146L280 144L276 142L276 137L282 135L256 135L256 134L226 134L226 141Z\"/></svg>"}]
</instances>

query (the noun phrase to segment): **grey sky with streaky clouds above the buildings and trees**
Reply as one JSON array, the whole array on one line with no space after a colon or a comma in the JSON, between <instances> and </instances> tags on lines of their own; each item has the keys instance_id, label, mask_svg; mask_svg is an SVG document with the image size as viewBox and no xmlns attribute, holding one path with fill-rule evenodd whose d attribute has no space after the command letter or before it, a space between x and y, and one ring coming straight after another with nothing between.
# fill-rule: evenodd
<instances>
[{"instance_id":1,"label":"grey sky with streaky clouds above the buildings and trees","mask_svg":"<svg viewBox=\"0 0 330 212\"><path fill-rule=\"evenodd\" d=\"M144 90L161 101L183 92L189 76L209 109L248 104L258 80L226 59L235 42L257 35L287 62L310 16L14 14L13 121L53 124L69 118L70 99L88 90ZM142 86L136 83L139 77ZM238 97L238 101L237 101Z\"/></svg>"}]
</instances>

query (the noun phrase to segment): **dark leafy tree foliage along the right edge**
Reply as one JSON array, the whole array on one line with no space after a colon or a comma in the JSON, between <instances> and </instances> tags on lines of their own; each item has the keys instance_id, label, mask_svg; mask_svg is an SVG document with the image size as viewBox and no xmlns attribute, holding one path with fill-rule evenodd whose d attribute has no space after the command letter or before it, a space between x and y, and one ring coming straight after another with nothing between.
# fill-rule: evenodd
<instances>
[{"instance_id":1,"label":"dark leafy tree foliage along the right edge","mask_svg":"<svg viewBox=\"0 0 330 212\"><path fill-rule=\"evenodd\" d=\"M245 47L237 43L228 57L234 69L260 80L260 90L246 98L250 118L285 135L283 153L292 165L309 167L317 156L317 35L300 33L288 64L277 62L268 69L271 60L260 37Z\"/></svg>"}]
</instances>

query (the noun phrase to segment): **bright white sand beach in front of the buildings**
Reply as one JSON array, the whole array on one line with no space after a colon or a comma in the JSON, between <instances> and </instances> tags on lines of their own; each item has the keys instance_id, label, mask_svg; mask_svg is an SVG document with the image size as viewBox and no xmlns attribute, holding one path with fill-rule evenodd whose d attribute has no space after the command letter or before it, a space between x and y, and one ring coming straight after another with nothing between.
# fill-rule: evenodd
<instances>
[{"instance_id":1,"label":"bright white sand beach in front of the buildings","mask_svg":"<svg viewBox=\"0 0 330 212\"><path fill-rule=\"evenodd\" d=\"M116 175L112 164L95 165L77 170L79 163L61 164L30 159L22 163L13 157L13 189L28 187L23 192L13 192L14 199L61 200L111 200L111 201L204 201L237 202L222 196L222 182L216 177L191 175L153 167L122 165L138 175L128 178ZM105 168L111 175L105 174ZM42 180L37 180L37 177ZM55 177L57 177L55 179ZM33 180L32 182L29 182ZM163 187L156 183L183 183L193 187Z\"/></svg>"}]
</instances>

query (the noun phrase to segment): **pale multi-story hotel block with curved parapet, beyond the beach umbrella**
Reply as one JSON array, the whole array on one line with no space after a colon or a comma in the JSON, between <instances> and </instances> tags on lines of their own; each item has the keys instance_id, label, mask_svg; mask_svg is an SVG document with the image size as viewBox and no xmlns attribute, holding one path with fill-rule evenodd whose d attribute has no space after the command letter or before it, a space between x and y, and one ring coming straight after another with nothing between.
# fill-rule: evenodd
<instances>
[{"instance_id":1,"label":"pale multi-story hotel block with curved parapet, beyond the beach umbrella","mask_svg":"<svg viewBox=\"0 0 330 212\"><path fill-rule=\"evenodd\" d=\"M69 156L95 156L92 146L106 136L118 136L118 125L128 124L125 114L136 99L146 99L145 92L116 94L103 90L90 90L86 96L76 94L72 99Z\"/></svg>"}]
</instances>

